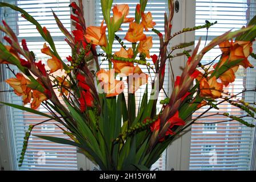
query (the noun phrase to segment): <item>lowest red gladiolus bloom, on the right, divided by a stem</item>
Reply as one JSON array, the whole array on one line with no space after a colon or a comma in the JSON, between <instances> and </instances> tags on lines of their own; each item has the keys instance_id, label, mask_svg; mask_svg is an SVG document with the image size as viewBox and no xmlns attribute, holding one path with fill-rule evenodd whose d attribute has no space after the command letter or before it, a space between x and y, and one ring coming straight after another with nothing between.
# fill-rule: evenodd
<instances>
[{"instance_id":1,"label":"lowest red gladiolus bloom, on the right, divided by a stem","mask_svg":"<svg viewBox=\"0 0 256 182\"><path fill-rule=\"evenodd\" d=\"M166 131L165 136L175 134L171 130L174 126L184 126L185 125L185 121L183 121L181 118L179 118L179 112L178 111L173 115L173 117L168 119L167 123L170 123L170 126L169 126L168 130ZM150 129L151 129L152 132L153 131L158 131L160 129L160 118L157 119L157 121L155 121L154 123L151 124ZM165 140L165 137L159 139L160 142L162 142L163 140Z\"/></svg>"}]
</instances>

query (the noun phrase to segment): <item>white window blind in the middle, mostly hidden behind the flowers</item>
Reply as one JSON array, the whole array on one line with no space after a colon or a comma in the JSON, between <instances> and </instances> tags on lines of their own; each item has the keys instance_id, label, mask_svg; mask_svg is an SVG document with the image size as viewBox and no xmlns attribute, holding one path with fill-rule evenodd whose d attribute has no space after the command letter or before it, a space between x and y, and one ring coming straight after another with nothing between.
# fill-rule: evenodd
<instances>
[{"instance_id":1,"label":"white window blind in the middle, mostly hidden behind the flowers","mask_svg":"<svg viewBox=\"0 0 256 182\"><path fill-rule=\"evenodd\" d=\"M136 5L139 3L138 0L118 0L118 1L113 1L113 3L115 4L123 4L126 3L129 5L130 7L130 11L129 11L129 15L127 17L134 17L135 15L135 7ZM145 9L145 13L147 13L148 11L151 12L152 16L153 16L153 21L156 22L156 26L154 27L155 29L159 30L163 35L164 35L164 13L168 11L168 4L167 1L165 0L149 0L147 2L147 7ZM113 15L113 13L111 12L111 16ZM95 24L97 26L100 26L101 22L103 19L103 15L102 15L102 11L101 11L101 1L100 0L96 0L95 1ZM129 28L129 23L123 23L122 24L122 31L118 31L116 34L119 36L119 38L121 38L123 40L123 42L125 43L125 45L127 46L127 48L131 47L131 43L127 42L125 39L123 39L126 35L126 32ZM152 31L149 32L145 32L146 36L152 36L153 37L153 48L150 49L150 55L158 55L159 54L159 38L158 35L155 34ZM113 44L113 52L117 52L119 51L119 49L121 48L121 46L119 45L119 43L117 41L114 42ZM99 52L102 52L101 50L99 50ZM101 60L104 57L101 58ZM138 58L137 58L138 59ZM147 59L147 62L149 62L151 65L153 66L153 61ZM107 61L103 61L101 63L101 67L108 69L108 62ZM143 65L139 65L139 67L142 69L142 72L147 73L148 74L148 70L146 68L146 66ZM163 85L163 88L165 89L165 91L168 91L168 66L166 65L166 78L165 78L165 84ZM150 71L150 75L152 76L152 78L154 79L154 73L152 71ZM148 90L149 93L151 92L151 78L149 76L149 80L148 80ZM127 89L127 85L126 89ZM142 99L144 90L146 88L146 85L142 85L141 89L137 90L137 92L135 93L135 99L136 99L136 105L137 107L139 106L140 100ZM127 90L125 90L125 93ZM127 96L126 96L127 97ZM163 92L159 93L159 97L158 97L158 102L163 100L165 97L165 94ZM159 111L161 110L161 105L158 104L157 105L157 113L159 113ZM156 169L156 170L165 170L165 166L166 166L166 152L163 152L162 157L158 160L158 162L156 162L151 169Z\"/></svg>"}]
</instances>

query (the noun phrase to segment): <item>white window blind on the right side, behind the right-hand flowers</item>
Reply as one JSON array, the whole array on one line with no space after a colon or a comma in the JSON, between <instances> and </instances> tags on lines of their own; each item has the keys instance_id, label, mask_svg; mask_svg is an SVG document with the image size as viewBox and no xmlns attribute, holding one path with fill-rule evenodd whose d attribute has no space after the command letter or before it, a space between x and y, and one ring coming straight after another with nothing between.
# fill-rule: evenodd
<instances>
[{"instance_id":1,"label":"white window blind on the right side, behind the right-hand flowers","mask_svg":"<svg viewBox=\"0 0 256 182\"><path fill-rule=\"evenodd\" d=\"M209 29L208 35L206 30L198 30L195 32L195 39L202 37L201 49L207 42L218 35L223 34L233 28L233 31L246 26L247 22L255 15L255 1L223 1L196 0L196 26L205 23L218 21L218 23ZM255 45L254 45L255 51ZM215 59L221 51L213 49L205 57L202 63L207 64ZM218 61L218 60L217 60ZM227 88L225 92L236 94L243 89L254 89L256 84L256 61L250 59L250 63L254 65L253 69L239 68L236 73L235 81ZM238 98L246 102L255 102L255 93L240 94ZM207 106L194 113L193 117L197 117ZM219 110L211 110L208 114L218 111L230 113L237 117L245 113L231 106L228 103L219 105ZM201 119L204 125L193 125L191 134L190 149L190 169L191 170L249 170L251 167L252 148L255 139L254 129L241 125L238 122L231 121L226 123L210 124L228 120L225 117L209 117ZM247 122L255 123L255 120L246 118ZM207 124L207 122L209 124Z\"/></svg>"}]
</instances>

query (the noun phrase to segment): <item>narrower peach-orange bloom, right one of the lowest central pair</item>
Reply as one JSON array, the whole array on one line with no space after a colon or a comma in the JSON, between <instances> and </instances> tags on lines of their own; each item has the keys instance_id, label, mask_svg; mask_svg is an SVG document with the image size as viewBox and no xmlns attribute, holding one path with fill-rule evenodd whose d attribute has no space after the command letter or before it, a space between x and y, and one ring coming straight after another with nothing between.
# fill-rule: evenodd
<instances>
[{"instance_id":1,"label":"narrower peach-orange bloom, right one of the lowest central pair","mask_svg":"<svg viewBox=\"0 0 256 182\"><path fill-rule=\"evenodd\" d=\"M147 83L147 74L141 71L141 68L136 65L133 67L133 74L129 74L128 77L128 85L129 85L129 93L135 93L139 86Z\"/></svg>"}]
</instances>

